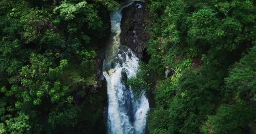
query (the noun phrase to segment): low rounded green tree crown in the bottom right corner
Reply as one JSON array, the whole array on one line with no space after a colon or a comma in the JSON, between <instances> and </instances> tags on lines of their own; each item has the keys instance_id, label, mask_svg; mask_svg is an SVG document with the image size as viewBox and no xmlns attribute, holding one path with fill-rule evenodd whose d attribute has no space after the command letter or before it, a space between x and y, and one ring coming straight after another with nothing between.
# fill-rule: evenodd
<instances>
[{"instance_id":1,"label":"low rounded green tree crown in the bottom right corner","mask_svg":"<svg viewBox=\"0 0 256 134\"><path fill-rule=\"evenodd\" d=\"M255 120L250 106L222 104L202 126L205 134L241 134L243 125ZM230 121L232 120L232 121Z\"/></svg>"}]
</instances>

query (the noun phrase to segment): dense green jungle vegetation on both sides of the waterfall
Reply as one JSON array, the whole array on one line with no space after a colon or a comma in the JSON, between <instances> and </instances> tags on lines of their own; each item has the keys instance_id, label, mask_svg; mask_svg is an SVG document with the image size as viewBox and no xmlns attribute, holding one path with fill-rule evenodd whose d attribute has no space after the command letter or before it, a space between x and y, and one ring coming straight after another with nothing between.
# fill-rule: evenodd
<instances>
[{"instance_id":1,"label":"dense green jungle vegetation on both sides of the waterfall","mask_svg":"<svg viewBox=\"0 0 256 134\"><path fill-rule=\"evenodd\" d=\"M149 133L256 134L256 1L147 6L149 60L128 82L153 94ZM0 134L104 131L106 98L88 86L118 8L118 0L0 1Z\"/></svg>"}]
</instances>

